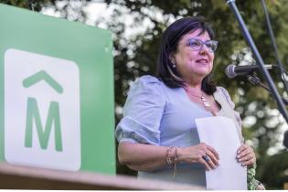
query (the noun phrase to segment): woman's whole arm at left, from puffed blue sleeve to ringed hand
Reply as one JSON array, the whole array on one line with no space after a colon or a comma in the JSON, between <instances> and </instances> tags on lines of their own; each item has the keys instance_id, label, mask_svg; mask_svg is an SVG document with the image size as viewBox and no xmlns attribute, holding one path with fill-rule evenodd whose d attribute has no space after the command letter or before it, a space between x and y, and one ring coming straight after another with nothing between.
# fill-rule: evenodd
<instances>
[{"instance_id":1,"label":"woman's whole arm at left, from puffed blue sleeve to ringed hand","mask_svg":"<svg viewBox=\"0 0 288 192\"><path fill-rule=\"evenodd\" d=\"M160 123L165 110L165 93L156 79L137 80L128 93L123 108L123 119L118 123L115 135L119 142L120 163L133 170L151 171L165 166L168 146L160 146ZM176 148L171 156L177 162L201 163L207 169L218 165L217 152L207 144ZM176 155L177 154L177 155ZM203 155L208 155L207 162ZM173 162L174 163L174 162Z\"/></svg>"}]
</instances>

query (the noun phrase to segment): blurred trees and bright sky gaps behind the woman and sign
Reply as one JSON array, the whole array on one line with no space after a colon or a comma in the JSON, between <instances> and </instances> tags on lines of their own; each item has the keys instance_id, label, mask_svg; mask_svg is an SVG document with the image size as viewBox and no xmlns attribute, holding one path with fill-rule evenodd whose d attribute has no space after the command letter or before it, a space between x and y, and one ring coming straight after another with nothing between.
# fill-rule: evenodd
<instances>
[{"instance_id":1,"label":"blurred trees and bright sky gaps behind the woman and sign","mask_svg":"<svg viewBox=\"0 0 288 192\"><path fill-rule=\"evenodd\" d=\"M264 2L270 14L280 59L287 69L287 1ZM229 64L256 64L225 0L0 0L0 3L112 31L116 123L122 118L123 103L133 80L145 74L155 74L159 40L165 27L184 16L205 16L219 40L214 80L228 89L236 111L240 112L244 137L257 155L256 177L267 189L283 189L284 183L288 182L288 152L283 147L283 133L288 130L288 125L276 102L267 91L255 87L245 77L229 80L224 73ZM264 62L276 64L261 0L238 0L236 5ZM278 70L271 71L279 93L288 98L279 74ZM258 76L264 82L260 72ZM135 172L117 164L117 174L134 176Z\"/></svg>"}]
</instances>

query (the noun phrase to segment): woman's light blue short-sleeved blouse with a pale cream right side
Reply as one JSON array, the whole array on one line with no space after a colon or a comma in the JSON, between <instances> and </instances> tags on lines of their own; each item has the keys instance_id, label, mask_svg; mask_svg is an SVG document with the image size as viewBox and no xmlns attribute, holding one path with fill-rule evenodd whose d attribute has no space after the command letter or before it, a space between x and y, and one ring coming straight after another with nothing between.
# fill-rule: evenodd
<instances>
[{"instance_id":1,"label":"woman's light blue short-sleeved blouse with a pale cream right side","mask_svg":"<svg viewBox=\"0 0 288 192\"><path fill-rule=\"evenodd\" d=\"M224 88L217 88L214 98L221 109L217 115L231 118L240 132L240 115ZM160 146L191 146L199 143L195 119L212 116L192 102L183 88L171 89L152 76L133 82L123 107L123 119L115 131L119 143L154 144ZM175 181L205 186L205 167L200 164L177 165L176 177L169 166L152 172L138 172L138 177Z\"/></svg>"}]
</instances>

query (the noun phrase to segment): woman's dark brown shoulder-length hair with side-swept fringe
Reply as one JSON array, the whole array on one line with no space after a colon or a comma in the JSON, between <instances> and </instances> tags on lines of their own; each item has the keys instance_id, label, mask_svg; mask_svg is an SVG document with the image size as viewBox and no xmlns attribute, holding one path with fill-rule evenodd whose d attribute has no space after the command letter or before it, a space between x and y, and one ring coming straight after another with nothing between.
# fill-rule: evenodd
<instances>
[{"instance_id":1,"label":"woman's dark brown shoulder-length hair with side-swept fringe","mask_svg":"<svg viewBox=\"0 0 288 192\"><path fill-rule=\"evenodd\" d=\"M201 30L200 34L207 31L211 39L215 37L212 27L208 25L203 16L178 19L165 29L161 38L156 76L160 80L163 80L166 86L170 88L184 86L184 81L180 78L179 73L172 67L170 55L176 52L181 37L197 29ZM211 80L211 73L202 80L202 91L205 91L207 94L213 94L216 91L216 86Z\"/></svg>"}]
</instances>

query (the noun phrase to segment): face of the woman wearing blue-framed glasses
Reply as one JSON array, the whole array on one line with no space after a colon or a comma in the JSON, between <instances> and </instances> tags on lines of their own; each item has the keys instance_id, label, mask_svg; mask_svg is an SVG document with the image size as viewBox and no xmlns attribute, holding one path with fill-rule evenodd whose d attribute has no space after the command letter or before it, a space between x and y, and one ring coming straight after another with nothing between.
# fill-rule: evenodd
<instances>
[{"instance_id":1,"label":"face of the woman wearing blue-framed glasses","mask_svg":"<svg viewBox=\"0 0 288 192\"><path fill-rule=\"evenodd\" d=\"M214 52L206 45L195 50L189 45L190 39L198 39L202 42L210 40L208 32L199 35L200 29L184 35L178 43L172 59L176 61L176 69L184 80L203 80L213 68Z\"/></svg>"}]
</instances>

